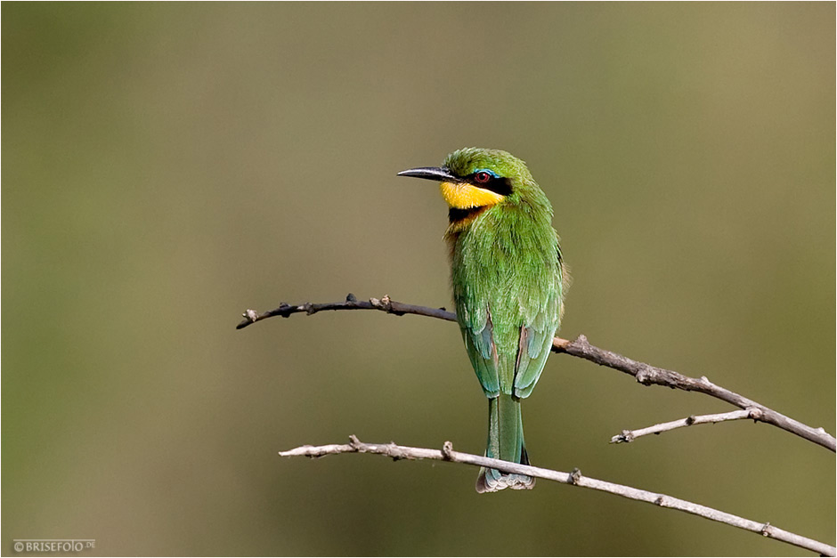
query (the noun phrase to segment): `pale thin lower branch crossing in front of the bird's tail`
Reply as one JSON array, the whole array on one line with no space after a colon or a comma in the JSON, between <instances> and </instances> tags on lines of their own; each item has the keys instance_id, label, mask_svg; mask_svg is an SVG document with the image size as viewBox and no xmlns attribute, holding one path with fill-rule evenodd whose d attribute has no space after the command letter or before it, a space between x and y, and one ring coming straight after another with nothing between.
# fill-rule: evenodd
<instances>
[{"instance_id":1,"label":"pale thin lower branch crossing in front of the bird's tail","mask_svg":"<svg viewBox=\"0 0 837 558\"><path fill-rule=\"evenodd\" d=\"M744 519L738 515L727 514L726 512L721 512L706 505L695 504L693 502L688 502L687 500L681 500L676 497L670 497L656 492L635 489L630 486L624 486L614 482L598 481L597 479L582 476L581 471L578 469L573 470L572 473L562 473L551 469L532 467L531 465L520 465L517 463L510 463L508 461L500 461L500 459L461 453L453 450L453 444L451 444L450 441L444 442L443 449L439 450L398 446L394 442L390 442L388 444L369 444L358 440L355 436L350 436L349 440L350 442L347 444L301 446L295 449L288 449L288 451L280 451L279 455L281 457L323 457L340 453L373 453L392 457L396 461L400 459L436 459L439 461L449 461L451 463L491 467L492 469L498 469L504 473L525 474L532 477L538 477L540 479L546 479L548 481L572 484L573 486L586 489L601 490L603 492L609 492L611 494L630 498L632 500L639 500L641 502L647 502L661 507L668 507L681 512L686 512L687 514L699 515L714 522L726 523L727 525L732 525L733 527L737 527L739 529L752 531L763 537L775 538L776 540L789 545L799 546L800 548L810 550L823 556L837 555L837 549L833 546L818 542L812 538L796 535L790 531L779 529L770 523L753 522L752 520Z\"/></svg>"}]
</instances>

